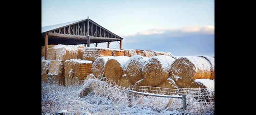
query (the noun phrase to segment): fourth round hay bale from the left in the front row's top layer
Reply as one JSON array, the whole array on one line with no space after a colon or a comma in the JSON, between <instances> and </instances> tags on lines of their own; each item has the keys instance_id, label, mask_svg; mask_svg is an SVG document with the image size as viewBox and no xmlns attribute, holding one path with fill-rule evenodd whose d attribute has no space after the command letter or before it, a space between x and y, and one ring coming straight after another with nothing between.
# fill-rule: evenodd
<instances>
[{"instance_id":1,"label":"fourth round hay bale from the left in the front row's top layer","mask_svg":"<svg viewBox=\"0 0 256 115\"><path fill-rule=\"evenodd\" d=\"M164 55L149 58L142 70L145 81L152 86L164 82L169 76L171 64L174 60L174 58Z\"/></svg>"}]
</instances>

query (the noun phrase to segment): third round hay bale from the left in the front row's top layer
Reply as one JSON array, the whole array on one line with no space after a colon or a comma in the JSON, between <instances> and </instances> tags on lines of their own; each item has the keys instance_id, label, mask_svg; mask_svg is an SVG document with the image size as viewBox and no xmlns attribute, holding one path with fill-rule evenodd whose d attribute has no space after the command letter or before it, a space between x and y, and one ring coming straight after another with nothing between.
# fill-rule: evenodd
<instances>
[{"instance_id":1,"label":"third round hay bale from the left in the front row's top layer","mask_svg":"<svg viewBox=\"0 0 256 115\"><path fill-rule=\"evenodd\" d=\"M124 66L124 75L131 84L135 84L137 81L143 79L142 69L148 59L149 58L144 56L134 55L126 62Z\"/></svg>"}]
</instances>

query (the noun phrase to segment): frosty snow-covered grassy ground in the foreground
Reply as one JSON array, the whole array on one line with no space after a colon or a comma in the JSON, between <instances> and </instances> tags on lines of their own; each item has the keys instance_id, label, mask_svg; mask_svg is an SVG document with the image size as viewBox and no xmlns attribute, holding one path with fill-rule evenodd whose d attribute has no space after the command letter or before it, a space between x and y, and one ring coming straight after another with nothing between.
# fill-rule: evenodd
<instances>
[{"instance_id":1,"label":"frosty snow-covered grassy ground in the foreground","mask_svg":"<svg viewBox=\"0 0 256 115\"><path fill-rule=\"evenodd\" d=\"M108 87L91 87L92 91L83 98L80 92L88 86L87 80L82 85L69 87L42 82L42 114L55 115L65 113L70 115L212 115L214 110L186 110L180 99L139 97L135 98L133 106L129 107L126 95L117 91L109 91Z\"/></svg>"}]
</instances>

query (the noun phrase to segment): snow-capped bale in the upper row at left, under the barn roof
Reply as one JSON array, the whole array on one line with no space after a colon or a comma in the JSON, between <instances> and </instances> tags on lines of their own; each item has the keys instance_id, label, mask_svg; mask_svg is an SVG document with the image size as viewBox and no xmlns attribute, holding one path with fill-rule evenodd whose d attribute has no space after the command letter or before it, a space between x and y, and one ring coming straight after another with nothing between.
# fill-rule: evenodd
<instances>
[{"instance_id":1,"label":"snow-capped bale in the upper row at left, under the barn roof","mask_svg":"<svg viewBox=\"0 0 256 115\"><path fill-rule=\"evenodd\" d=\"M66 45L57 45L56 48L56 59L66 61L70 59L77 59L77 50Z\"/></svg>"}]
</instances>

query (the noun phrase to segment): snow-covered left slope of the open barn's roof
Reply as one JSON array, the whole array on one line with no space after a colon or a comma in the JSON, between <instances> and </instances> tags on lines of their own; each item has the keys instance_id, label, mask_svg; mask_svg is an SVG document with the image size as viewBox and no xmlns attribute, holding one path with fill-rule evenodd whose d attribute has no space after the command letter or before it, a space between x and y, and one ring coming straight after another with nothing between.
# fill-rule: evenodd
<instances>
[{"instance_id":1,"label":"snow-covered left slope of the open barn's roof","mask_svg":"<svg viewBox=\"0 0 256 115\"><path fill-rule=\"evenodd\" d=\"M41 29L42 29L41 32L43 33L43 32L50 31L50 30L53 30L53 29L56 29L56 28L60 28L60 27L63 27L63 26L74 24L74 23L77 23L77 22L82 21L82 20L86 20L86 19L80 19L80 20L71 21L71 22L68 22L68 23L56 24L56 25L51 25L51 26L44 26L44 27L41 27Z\"/></svg>"}]
</instances>

